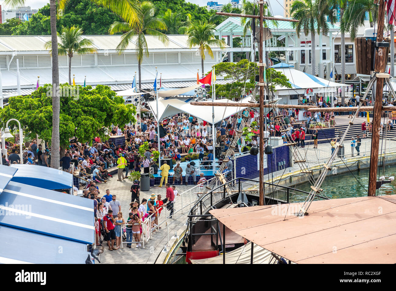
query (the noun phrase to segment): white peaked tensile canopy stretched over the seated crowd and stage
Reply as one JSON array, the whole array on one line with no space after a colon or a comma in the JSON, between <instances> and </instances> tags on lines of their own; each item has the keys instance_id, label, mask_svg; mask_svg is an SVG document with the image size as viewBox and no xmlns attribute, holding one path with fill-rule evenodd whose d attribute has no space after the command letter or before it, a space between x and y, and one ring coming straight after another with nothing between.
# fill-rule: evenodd
<instances>
[{"instance_id":1,"label":"white peaked tensile canopy stretched over the seated crowd and stage","mask_svg":"<svg viewBox=\"0 0 396 291\"><path fill-rule=\"evenodd\" d=\"M242 99L240 102L231 101L229 99L219 99L215 100L216 102L224 102L224 103L247 103L248 100L251 100L251 96L248 96ZM193 98L187 100L179 100L176 98L168 99L168 98L160 98L158 97L158 115L160 121L165 119L166 117L173 116L177 113L187 113L193 116L198 117L198 119L205 120L209 123L212 123L212 108L210 106L196 106L191 105L190 102L194 101ZM209 101L210 102L210 101ZM148 106L150 107L151 112L157 117L157 102L149 101ZM246 107L226 107L226 106L214 106L215 110L215 118L214 122L217 123L226 117L231 116L234 113L237 113L241 110L244 110ZM157 119L157 118L156 118ZM157 119L158 120L158 119Z\"/></svg>"}]
</instances>

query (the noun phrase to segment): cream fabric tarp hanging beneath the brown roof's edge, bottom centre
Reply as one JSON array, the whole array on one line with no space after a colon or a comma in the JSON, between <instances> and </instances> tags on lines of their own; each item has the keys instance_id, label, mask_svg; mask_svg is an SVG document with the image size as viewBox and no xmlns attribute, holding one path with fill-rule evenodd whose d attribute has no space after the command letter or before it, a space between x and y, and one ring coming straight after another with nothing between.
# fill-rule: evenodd
<instances>
[{"instance_id":1,"label":"cream fabric tarp hanging beneath the brown roof's edge, bottom centre","mask_svg":"<svg viewBox=\"0 0 396 291\"><path fill-rule=\"evenodd\" d=\"M250 264L250 250L251 250L251 242L248 242L246 245L234 249L225 254L225 263L226 264ZM276 260L271 252L267 249L261 248L261 246L257 246L254 244L253 247L253 264L277 264L278 260ZM219 255L217 257L208 258L208 259L200 259L200 260L191 260L192 264L223 264L223 255Z\"/></svg>"}]
</instances>

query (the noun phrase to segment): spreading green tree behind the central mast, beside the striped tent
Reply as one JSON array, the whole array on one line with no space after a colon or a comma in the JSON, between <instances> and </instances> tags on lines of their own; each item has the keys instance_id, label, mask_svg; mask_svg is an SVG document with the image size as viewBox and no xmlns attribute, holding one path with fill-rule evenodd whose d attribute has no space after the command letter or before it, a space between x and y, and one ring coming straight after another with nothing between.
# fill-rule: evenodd
<instances>
[{"instance_id":1,"label":"spreading green tree behind the central mast, beside the striped tent","mask_svg":"<svg viewBox=\"0 0 396 291\"><path fill-rule=\"evenodd\" d=\"M240 60L237 63L233 62L221 62L215 64L216 76L223 76L225 79L232 79L231 83L222 85L216 84L216 96L222 96L229 99L240 98L241 95L248 94L249 91L253 91L255 87L255 76L259 74L259 68L257 63L249 62L249 60ZM270 90L276 91L275 86L283 86L291 88L289 79L282 74L268 68L267 71L267 83ZM245 83L246 81L246 83ZM208 92L209 96L212 94L212 86Z\"/></svg>"}]
</instances>

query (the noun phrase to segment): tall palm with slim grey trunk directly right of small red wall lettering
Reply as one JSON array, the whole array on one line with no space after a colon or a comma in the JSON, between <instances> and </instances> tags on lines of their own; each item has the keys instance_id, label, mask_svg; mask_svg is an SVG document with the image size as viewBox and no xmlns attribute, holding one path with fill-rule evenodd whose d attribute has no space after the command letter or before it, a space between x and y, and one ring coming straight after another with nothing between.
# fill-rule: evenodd
<instances>
[{"instance_id":1,"label":"tall palm with slim grey trunk directly right of small red wall lettering","mask_svg":"<svg viewBox=\"0 0 396 291\"><path fill-rule=\"evenodd\" d=\"M316 42L315 35L327 34L329 26L327 23L328 13L324 13L328 9L328 2L313 0L296 0L290 6L290 15L294 19L299 20L297 24L293 22L297 35L300 36L304 32L305 36L311 35L311 67L312 74L315 74L316 67ZM315 28L316 26L316 28Z\"/></svg>"}]
</instances>

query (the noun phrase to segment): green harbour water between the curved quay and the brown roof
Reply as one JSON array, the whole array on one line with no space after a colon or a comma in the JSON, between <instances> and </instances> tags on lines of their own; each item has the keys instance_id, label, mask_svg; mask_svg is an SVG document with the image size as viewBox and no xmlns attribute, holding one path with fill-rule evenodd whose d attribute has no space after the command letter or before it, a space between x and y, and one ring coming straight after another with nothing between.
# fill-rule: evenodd
<instances>
[{"instance_id":1,"label":"green harbour water between the curved quay and the brown roof","mask_svg":"<svg viewBox=\"0 0 396 291\"><path fill-rule=\"evenodd\" d=\"M385 176L386 180L388 180L389 176L396 176L396 166L385 166L384 175L382 174L382 167L379 167L378 173L380 173L380 176ZM369 169L354 171L353 174L360 183L350 172L327 176L321 186L321 188L323 189L323 193L326 194L326 196L329 198L348 198L348 197L367 196L366 190L368 191ZM377 174L377 178L378 178L378 174ZM381 188L378 190L378 192L376 192L376 195L394 194L395 188L396 188L396 180L393 181L392 183L383 184ZM296 189L309 192L311 190L310 183L297 185ZM290 200L291 200L290 202L300 202L300 201L304 201L305 198L294 196Z\"/></svg>"}]
</instances>

